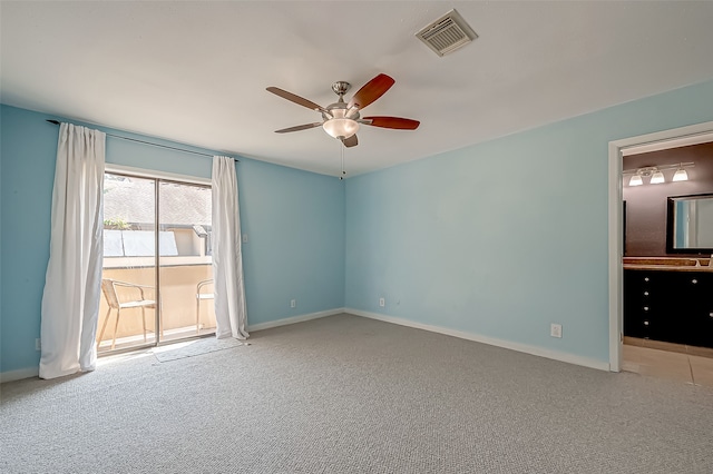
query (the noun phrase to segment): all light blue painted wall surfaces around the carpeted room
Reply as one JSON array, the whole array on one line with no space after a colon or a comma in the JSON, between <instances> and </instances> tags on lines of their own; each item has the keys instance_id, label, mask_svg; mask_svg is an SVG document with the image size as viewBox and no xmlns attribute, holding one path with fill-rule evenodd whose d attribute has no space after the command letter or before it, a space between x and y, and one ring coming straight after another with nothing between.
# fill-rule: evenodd
<instances>
[{"instance_id":1,"label":"all light blue painted wall surfaces around the carpeted room","mask_svg":"<svg viewBox=\"0 0 713 474\"><path fill-rule=\"evenodd\" d=\"M39 361L58 132L46 118L1 109L0 372ZM711 120L713 81L354 177L345 194L241 158L250 324L348 306L607 362L608 142ZM207 158L116 139L107 161L211 174Z\"/></svg>"}]
</instances>

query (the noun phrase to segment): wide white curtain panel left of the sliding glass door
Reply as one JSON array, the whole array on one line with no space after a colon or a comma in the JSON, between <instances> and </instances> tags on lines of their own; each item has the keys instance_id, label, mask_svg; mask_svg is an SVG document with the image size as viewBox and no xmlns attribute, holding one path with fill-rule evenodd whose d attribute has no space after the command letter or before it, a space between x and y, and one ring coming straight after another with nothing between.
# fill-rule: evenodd
<instances>
[{"instance_id":1,"label":"wide white curtain panel left of the sliding glass door","mask_svg":"<svg viewBox=\"0 0 713 474\"><path fill-rule=\"evenodd\" d=\"M40 377L94 371L101 295L102 189L106 134L59 127Z\"/></svg>"}]
</instances>

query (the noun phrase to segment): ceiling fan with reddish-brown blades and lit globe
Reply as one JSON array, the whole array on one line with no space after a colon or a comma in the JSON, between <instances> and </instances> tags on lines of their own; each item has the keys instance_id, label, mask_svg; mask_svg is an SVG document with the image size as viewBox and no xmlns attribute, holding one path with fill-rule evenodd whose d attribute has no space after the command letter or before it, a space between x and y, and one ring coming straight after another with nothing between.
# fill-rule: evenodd
<instances>
[{"instance_id":1,"label":"ceiling fan with reddish-brown blades and lit globe","mask_svg":"<svg viewBox=\"0 0 713 474\"><path fill-rule=\"evenodd\" d=\"M344 102L344 93L346 93L351 88L351 85L344 81L336 81L332 85L332 90L339 96L339 100L326 107L322 107L311 100L295 96L294 93L287 92L286 90L277 87L268 87L267 91L322 113L322 121L283 128L281 130L275 130L275 132L286 134L289 131L322 127L331 137L341 140L345 147L355 147L359 145L355 134L359 131L360 125L400 130L416 130L420 125L418 120L400 117L361 118L359 115L360 110L383 96L394 82L395 81L392 78L381 73L359 89L349 102Z\"/></svg>"}]
</instances>

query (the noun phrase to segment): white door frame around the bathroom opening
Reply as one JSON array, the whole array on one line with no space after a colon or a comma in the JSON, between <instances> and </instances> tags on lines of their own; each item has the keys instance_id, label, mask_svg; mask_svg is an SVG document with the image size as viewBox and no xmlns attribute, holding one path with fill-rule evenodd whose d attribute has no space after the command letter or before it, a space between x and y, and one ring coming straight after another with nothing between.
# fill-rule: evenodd
<instances>
[{"instance_id":1,"label":"white door frame around the bathroom opening","mask_svg":"<svg viewBox=\"0 0 713 474\"><path fill-rule=\"evenodd\" d=\"M710 137L706 137L710 136ZM609 371L622 369L624 308L622 284L622 156L627 149L674 148L713 140L713 121L609 141ZM705 138L705 139L704 139ZM710 139L709 139L710 138ZM668 144L665 144L668 142ZM676 142L676 145L673 145ZM642 150L643 151L643 150Z\"/></svg>"}]
</instances>

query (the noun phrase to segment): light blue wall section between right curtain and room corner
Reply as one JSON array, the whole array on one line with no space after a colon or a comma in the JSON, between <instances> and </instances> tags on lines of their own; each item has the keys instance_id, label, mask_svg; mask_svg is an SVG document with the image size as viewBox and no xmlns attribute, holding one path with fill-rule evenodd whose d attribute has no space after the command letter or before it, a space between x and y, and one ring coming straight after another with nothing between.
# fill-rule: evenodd
<instances>
[{"instance_id":1,"label":"light blue wall section between right curtain and room corner","mask_svg":"<svg viewBox=\"0 0 713 474\"><path fill-rule=\"evenodd\" d=\"M343 307L344 181L254 160L240 169L250 324Z\"/></svg>"}]
</instances>

